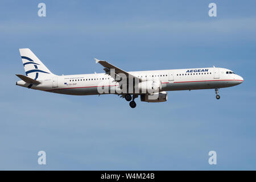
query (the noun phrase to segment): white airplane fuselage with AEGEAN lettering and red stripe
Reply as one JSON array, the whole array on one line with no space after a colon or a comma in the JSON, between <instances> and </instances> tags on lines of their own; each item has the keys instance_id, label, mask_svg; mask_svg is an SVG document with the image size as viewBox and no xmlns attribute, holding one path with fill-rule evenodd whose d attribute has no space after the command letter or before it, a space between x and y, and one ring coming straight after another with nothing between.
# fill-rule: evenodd
<instances>
[{"instance_id":1,"label":"white airplane fuselage with AEGEAN lettering and red stripe","mask_svg":"<svg viewBox=\"0 0 256 182\"><path fill-rule=\"evenodd\" d=\"M159 80L162 82L160 91L225 88L243 82L241 76L225 68L166 69L129 73L141 78L142 81ZM110 90L108 93L115 94L115 90L119 88L119 83L106 73L54 75L47 78L39 77L38 81L42 84L33 85L31 89L80 96L101 94L98 92L98 88L102 88L102 86ZM16 84L25 87L30 85L22 80Z\"/></svg>"}]
</instances>

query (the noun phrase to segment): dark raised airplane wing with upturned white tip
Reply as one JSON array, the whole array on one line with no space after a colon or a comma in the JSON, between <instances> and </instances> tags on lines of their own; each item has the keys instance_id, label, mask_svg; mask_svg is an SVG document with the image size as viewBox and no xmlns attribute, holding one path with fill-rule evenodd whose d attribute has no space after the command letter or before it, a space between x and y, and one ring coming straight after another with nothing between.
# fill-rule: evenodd
<instances>
[{"instance_id":1,"label":"dark raised airplane wing with upturned white tip","mask_svg":"<svg viewBox=\"0 0 256 182\"><path fill-rule=\"evenodd\" d=\"M108 63L107 61L103 61L103 60L98 60L96 58L94 58L96 60L96 63L100 63L104 68L104 71L110 75L110 69L114 69L115 75L118 76L119 73L123 73L127 76L127 78L129 77L133 77L133 78L137 78L139 81L141 81L140 78L138 78L137 76L131 75L130 73L123 71L120 68L115 67L114 65ZM115 79L115 78L114 78ZM118 80L119 81L119 80Z\"/></svg>"}]
</instances>

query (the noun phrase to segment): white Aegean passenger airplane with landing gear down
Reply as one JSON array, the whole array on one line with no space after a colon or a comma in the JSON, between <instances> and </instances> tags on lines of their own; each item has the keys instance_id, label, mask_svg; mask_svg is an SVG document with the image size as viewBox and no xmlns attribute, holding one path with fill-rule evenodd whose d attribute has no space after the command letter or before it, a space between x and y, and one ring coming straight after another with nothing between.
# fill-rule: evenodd
<instances>
[{"instance_id":1,"label":"white Aegean passenger airplane with landing gear down","mask_svg":"<svg viewBox=\"0 0 256 182\"><path fill-rule=\"evenodd\" d=\"M135 98L142 102L165 102L167 91L214 89L239 85L243 78L226 68L164 69L154 71L126 72L108 63L96 60L105 73L84 75L55 75L28 48L19 49L26 76L16 85L46 92L77 96L117 94L136 107ZM122 84L121 84L122 82ZM153 97L154 96L154 97Z\"/></svg>"}]
</instances>

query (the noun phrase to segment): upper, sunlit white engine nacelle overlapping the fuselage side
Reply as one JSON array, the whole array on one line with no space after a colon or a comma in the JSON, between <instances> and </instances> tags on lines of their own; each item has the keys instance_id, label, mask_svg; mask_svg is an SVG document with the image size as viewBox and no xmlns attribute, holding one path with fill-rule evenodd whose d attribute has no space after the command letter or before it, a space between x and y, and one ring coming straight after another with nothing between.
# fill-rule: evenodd
<instances>
[{"instance_id":1,"label":"upper, sunlit white engine nacelle overlapping the fuselage side","mask_svg":"<svg viewBox=\"0 0 256 182\"><path fill-rule=\"evenodd\" d=\"M162 90L162 82L159 80L148 80L139 83L139 91L142 93L155 93Z\"/></svg>"}]
</instances>

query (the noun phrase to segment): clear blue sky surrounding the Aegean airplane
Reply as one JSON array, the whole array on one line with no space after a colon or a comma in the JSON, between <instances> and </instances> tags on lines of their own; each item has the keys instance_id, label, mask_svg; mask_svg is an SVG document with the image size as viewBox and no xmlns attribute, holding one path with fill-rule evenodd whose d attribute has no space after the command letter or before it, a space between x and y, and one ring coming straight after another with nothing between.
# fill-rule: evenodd
<instances>
[{"instance_id":1,"label":"clear blue sky surrounding the Aegean airplane","mask_svg":"<svg viewBox=\"0 0 256 182\"><path fill-rule=\"evenodd\" d=\"M38 16L44 2L47 16ZM217 17L208 16L210 2ZM255 1L1 1L0 169L256 169ZM65 96L15 85L30 48L55 74L229 68L233 88L168 92L164 103ZM37 164L38 151L47 165ZM217 152L217 165L208 152Z\"/></svg>"}]
</instances>

